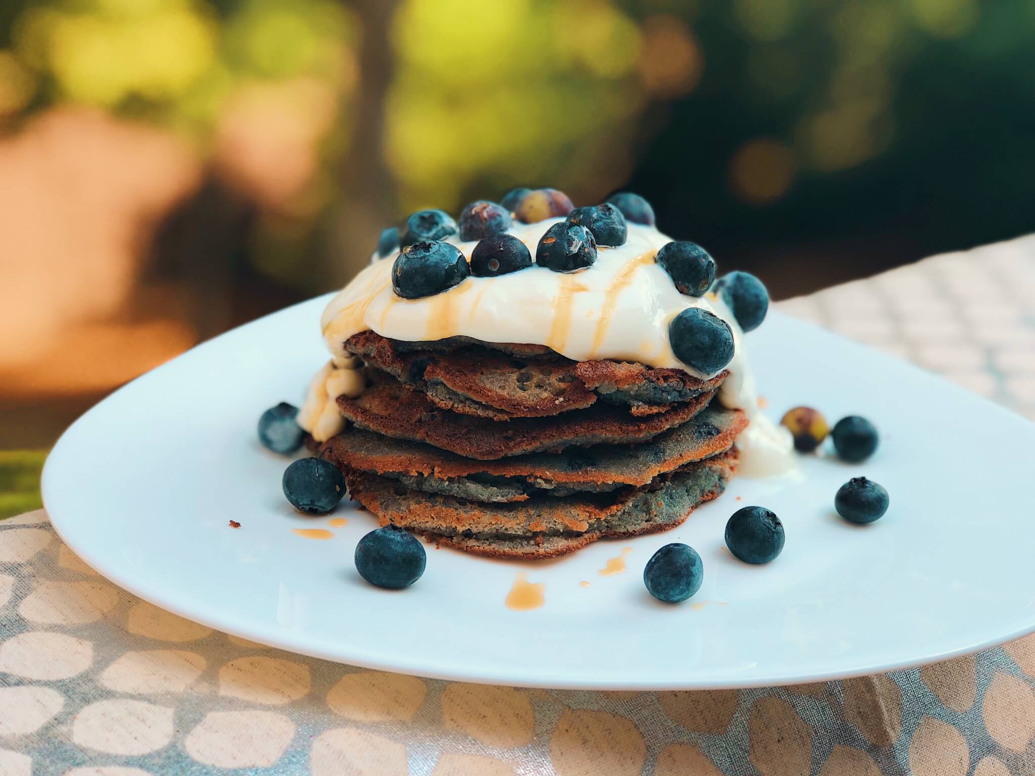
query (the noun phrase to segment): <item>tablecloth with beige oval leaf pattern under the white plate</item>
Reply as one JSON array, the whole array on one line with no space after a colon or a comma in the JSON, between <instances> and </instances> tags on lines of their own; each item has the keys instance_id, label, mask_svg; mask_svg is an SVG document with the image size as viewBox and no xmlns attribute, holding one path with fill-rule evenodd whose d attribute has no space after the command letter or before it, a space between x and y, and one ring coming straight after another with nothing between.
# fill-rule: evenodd
<instances>
[{"instance_id":1,"label":"tablecloth with beige oval leaf pattern under the white plate","mask_svg":"<svg viewBox=\"0 0 1035 776\"><path fill-rule=\"evenodd\" d=\"M779 307L1035 418L1035 237ZM1033 684L1035 636L920 669L722 692L362 670L143 602L41 510L0 523L0 776L1030 776Z\"/></svg>"}]
</instances>

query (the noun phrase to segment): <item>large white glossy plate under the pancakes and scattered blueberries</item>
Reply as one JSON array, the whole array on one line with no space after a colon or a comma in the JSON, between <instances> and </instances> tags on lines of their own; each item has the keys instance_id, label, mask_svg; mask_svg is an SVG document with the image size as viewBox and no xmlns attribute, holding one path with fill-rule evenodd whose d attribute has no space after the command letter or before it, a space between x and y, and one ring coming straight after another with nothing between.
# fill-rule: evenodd
<instances>
[{"instance_id":1,"label":"large white glossy plate under the pancakes and scattered blueberries","mask_svg":"<svg viewBox=\"0 0 1035 776\"><path fill-rule=\"evenodd\" d=\"M882 444L863 465L802 456L802 478L737 478L681 528L572 556L494 562L427 547L412 588L364 584L352 555L375 527L348 518L325 541L294 528L287 460L256 439L260 413L299 401L326 354L315 299L231 331L125 386L61 438L43 498L62 538L137 595L230 633L357 665L498 684L717 688L869 674L976 651L1035 630L1035 425L873 350L772 314L748 336L774 417L794 405L858 413ZM828 443L829 444L829 443ZM855 527L837 487L866 475L891 508ZM722 532L748 504L787 528L755 567ZM241 528L228 526L238 520ZM662 544L696 547L704 587L666 605L644 589ZM623 547L628 571L599 573ZM519 572L545 603L504 598ZM588 581L583 587L581 581ZM699 605L693 605L699 604ZM700 605L703 604L703 605Z\"/></svg>"}]
</instances>

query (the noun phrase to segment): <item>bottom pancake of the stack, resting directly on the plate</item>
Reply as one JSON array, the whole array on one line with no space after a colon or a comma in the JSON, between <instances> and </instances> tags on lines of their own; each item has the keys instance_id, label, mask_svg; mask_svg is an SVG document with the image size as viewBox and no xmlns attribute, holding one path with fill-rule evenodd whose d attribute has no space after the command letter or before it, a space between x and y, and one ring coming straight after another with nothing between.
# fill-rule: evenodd
<instances>
[{"instance_id":1,"label":"bottom pancake of the stack, resting directly on the plate","mask_svg":"<svg viewBox=\"0 0 1035 776\"><path fill-rule=\"evenodd\" d=\"M437 543L495 558L551 558L605 537L678 526L724 489L736 450L686 464L640 488L519 504L483 504L413 490L374 474L348 475L352 498L377 515Z\"/></svg>"}]
</instances>

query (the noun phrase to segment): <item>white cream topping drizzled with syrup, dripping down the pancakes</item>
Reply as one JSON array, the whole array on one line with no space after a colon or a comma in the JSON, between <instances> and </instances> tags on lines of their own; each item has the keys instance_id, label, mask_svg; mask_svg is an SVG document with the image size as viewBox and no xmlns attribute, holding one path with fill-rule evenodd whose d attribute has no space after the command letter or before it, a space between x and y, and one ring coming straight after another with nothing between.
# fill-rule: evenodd
<instances>
[{"instance_id":1,"label":"white cream topping drizzled with syrup, dripping down the pancakes","mask_svg":"<svg viewBox=\"0 0 1035 776\"><path fill-rule=\"evenodd\" d=\"M542 235L562 220L514 222L508 232L534 257ZM448 241L468 259L477 244L457 236ZM735 353L726 367L731 374L719 390L719 401L744 410L750 419L738 439L741 470L748 475L755 470L757 476L786 471L793 466L791 435L758 409L744 334L733 314L712 294L680 294L669 274L654 263L658 248L671 241L654 227L630 222L624 245L599 246L596 262L579 272L560 273L533 265L497 277L468 277L422 299L403 299L392 290L391 267L397 250L384 259L375 255L371 265L328 303L321 319L324 340L331 354L341 357L343 342L366 330L409 341L467 336L487 342L542 345L573 361L639 361L710 378L677 359L669 344L672 319L687 307L703 307L733 331ZM318 441L327 439L324 435L335 427L331 416L336 396L331 396L336 385L329 385L333 368L328 368L314 379L309 399L299 413L299 425Z\"/></svg>"}]
</instances>

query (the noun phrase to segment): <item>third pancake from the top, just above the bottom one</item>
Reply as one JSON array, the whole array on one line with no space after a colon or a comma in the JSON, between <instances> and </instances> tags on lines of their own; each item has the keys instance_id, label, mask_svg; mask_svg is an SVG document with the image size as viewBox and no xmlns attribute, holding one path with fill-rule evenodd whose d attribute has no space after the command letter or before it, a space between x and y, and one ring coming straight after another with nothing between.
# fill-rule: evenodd
<instances>
[{"instance_id":1,"label":"third pancake from the top, just above the bottom one","mask_svg":"<svg viewBox=\"0 0 1035 776\"><path fill-rule=\"evenodd\" d=\"M742 411L726 410L713 401L686 423L638 445L474 460L350 427L328 440L320 454L344 471L390 477L416 490L472 501L519 502L533 496L646 485L659 474L728 450L746 425Z\"/></svg>"}]
</instances>

